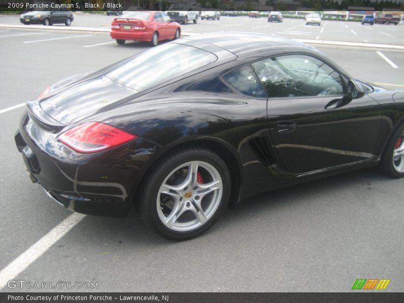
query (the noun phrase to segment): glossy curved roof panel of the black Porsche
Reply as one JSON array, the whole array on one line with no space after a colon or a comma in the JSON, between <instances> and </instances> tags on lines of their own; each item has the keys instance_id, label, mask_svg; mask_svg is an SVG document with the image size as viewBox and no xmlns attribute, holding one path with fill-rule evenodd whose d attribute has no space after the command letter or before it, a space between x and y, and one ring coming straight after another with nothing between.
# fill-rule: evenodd
<instances>
[{"instance_id":1,"label":"glossy curved roof panel of the black Porsche","mask_svg":"<svg viewBox=\"0 0 404 303\"><path fill-rule=\"evenodd\" d=\"M247 51L249 49L251 51L254 51L254 49L256 48L280 46L280 45L289 45L289 46L296 45L300 47L305 46L307 48L312 48L309 45L306 45L304 43L289 38L271 36L260 33L249 33L249 32L206 33L185 37L181 40L205 42L226 49L226 51L229 51L233 54L237 54L242 51Z\"/></svg>"}]
</instances>

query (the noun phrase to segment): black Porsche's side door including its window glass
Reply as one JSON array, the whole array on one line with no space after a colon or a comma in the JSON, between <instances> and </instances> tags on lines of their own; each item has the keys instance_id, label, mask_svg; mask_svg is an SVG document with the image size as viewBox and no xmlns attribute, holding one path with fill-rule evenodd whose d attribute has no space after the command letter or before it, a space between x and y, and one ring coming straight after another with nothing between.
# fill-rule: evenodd
<instances>
[{"instance_id":1,"label":"black Porsche's side door including its window glass","mask_svg":"<svg viewBox=\"0 0 404 303\"><path fill-rule=\"evenodd\" d=\"M283 168L304 173L373 155L381 117L365 95L349 98L344 76L309 55L251 64L267 94L268 126Z\"/></svg>"}]
</instances>

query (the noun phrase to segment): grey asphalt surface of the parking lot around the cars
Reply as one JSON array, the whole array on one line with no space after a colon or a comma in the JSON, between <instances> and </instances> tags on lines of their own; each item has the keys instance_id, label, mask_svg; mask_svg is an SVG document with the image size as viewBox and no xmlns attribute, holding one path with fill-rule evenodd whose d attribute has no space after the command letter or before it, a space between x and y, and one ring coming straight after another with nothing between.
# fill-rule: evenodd
<instances>
[{"instance_id":1,"label":"grey asphalt surface of the parking lot around the cars","mask_svg":"<svg viewBox=\"0 0 404 303\"><path fill-rule=\"evenodd\" d=\"M0 24L3 18L6 17L0 18ZM75 22L83 20L77 17ZM242 29L243 24L238 23L244 21L255 22L257 28ZM269 33L286 31L289 33L284 35L291 36L295 31L295 36L305 36L297 35L304 28L312 31L307 36L310 39L317 35L324 35L321 39L337 38L336 32L341 31L352 41L365 37L369 42L404 43L402 31L398 30L401 25L375 25L369 30L350 22L306 27L302 20L288 21L259 27L267 25L266 18L227 17L218 24L224 24L219 30L226 31L266 32L277 27L276 32ZM183 28L195 32L197 28L201 28L200 32L204 28L218 30L210 25L212 22L190 23ZM292 26L295 27L287 31ZM335 33L331 30L334 27ZM348 37L351 29L358 36L351 33L352 37ZM378 31L394 38L384 38L376 34ZM376 35L374 40L372 34ZM2 270L72 214L49 199L25 173L14 143L24 108L4 110L35 98L59 79L102 68L149 46L139 42L118 45L108 35L17 30L0 31L0 45ZM355 78L389 89L404 89L402 52L317 48ZM79 216L77 225L32 264L22 264L12 279L98 283L96 289L53 289L60 291L165 292L350 291L356 279L378 278L391 280L385 291L404 291L402 185L403 180L389 179L372 169L277 190L242 201L209 232L185 242L168 241L150 232L133 210L126 218ZM0 281L9 277L2 274ZM43 290L46 291L5 286L1 291Z\"/></svg>"}]
</instances>

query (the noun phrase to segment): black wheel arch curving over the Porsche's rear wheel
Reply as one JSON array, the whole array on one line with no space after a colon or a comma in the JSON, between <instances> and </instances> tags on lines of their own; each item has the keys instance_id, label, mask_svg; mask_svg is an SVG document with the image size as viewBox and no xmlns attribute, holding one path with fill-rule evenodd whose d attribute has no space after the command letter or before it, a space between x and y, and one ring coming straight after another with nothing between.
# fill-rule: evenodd
<instances>
[{"instance_id":1,"label":"black wheel arch curving over the Porsche's rear wheel","mask_svg":"<svg viewBox=\"0 0 404 303\"><path fill-rule=\"evenodd\" d=\"M136 176L136 180L134 180L131 188L134 196L133 203L135 203L137 200L137 194L139 192L138 188L142 186L142 182L144 182L143 180L145 179L147 173L150 171L150 168L164 157L168 157L177 149L183 147L207 148L218 154L219 157L222 158L230 173L231 192L228 206L230 208L233 208L239 201L240 192L243 184L244 174L242 164L234 147L232 147L229 143L214 137L198 137L186 141L176 141L169 146L166 146L164 149L162 148L161 153L158 153L153 159L150 159L148 165L142 168L142 170Z\"/></svg>"}]
</instances>

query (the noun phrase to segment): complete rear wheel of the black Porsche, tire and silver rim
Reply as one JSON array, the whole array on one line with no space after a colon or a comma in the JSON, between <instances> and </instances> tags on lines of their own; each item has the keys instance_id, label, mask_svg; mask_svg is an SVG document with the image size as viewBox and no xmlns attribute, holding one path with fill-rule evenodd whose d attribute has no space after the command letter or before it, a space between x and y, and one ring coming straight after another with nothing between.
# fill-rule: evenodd
<instances>
[{"instance_id":1,"label":"complete rear wheel of the black Porsche, tire and silver rim","mask_svg":"<svg viewBox=\"0 0 404 303\"><path fill-rule=\"evenodd\" d=\"M189 175L191 169L197 173ZM204 188L208 183L212 185ZM140 186L139 212L144 223L165 238L185 240L204 233L219 219L229 200L231 180L217 154L189 147L158 161ZM208 188L212 190L200 196ZM172 220L167 220L170 216Z\"/></svg>"}]
</instances>

